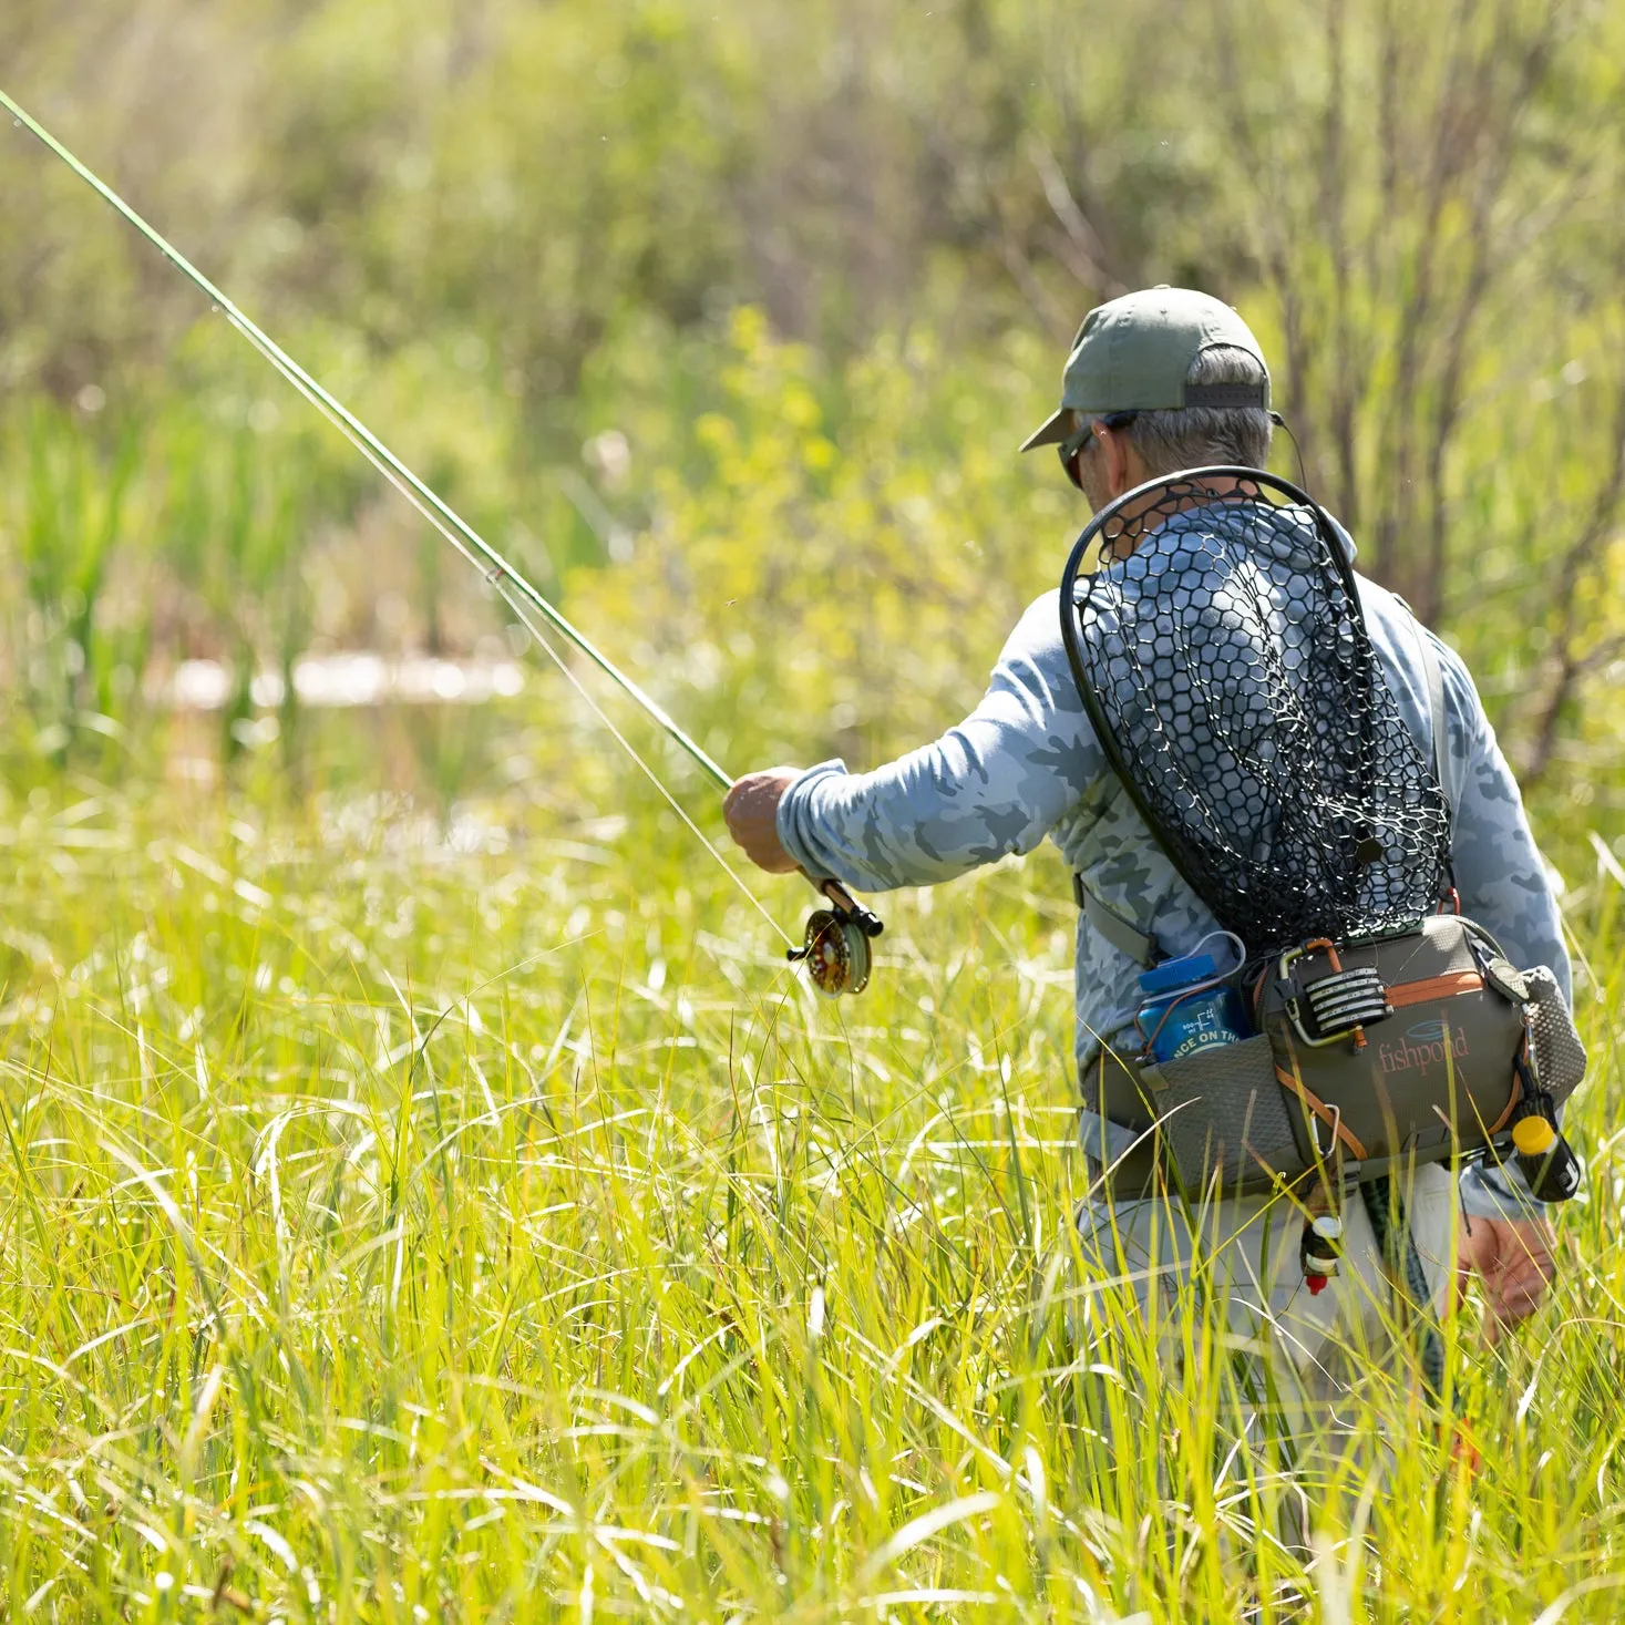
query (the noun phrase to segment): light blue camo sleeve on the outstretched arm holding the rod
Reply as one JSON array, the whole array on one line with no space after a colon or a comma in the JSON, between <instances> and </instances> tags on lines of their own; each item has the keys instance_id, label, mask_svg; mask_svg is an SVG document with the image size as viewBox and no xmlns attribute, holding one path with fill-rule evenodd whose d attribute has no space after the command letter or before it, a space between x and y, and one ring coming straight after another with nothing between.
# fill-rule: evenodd
<instances>
[{"instance_id":1,"label":"light blue camo sleeve on the outstretched arm holding the rod","mask_svg":"<svg viewBox=\"0 0 1625 1625\"><path fill-rule=\"evenodd\" d=\"M1032 852L1107 772L1046 593L1011 634L982 704L887 767L811 767L778 803L778 838L812 876L864 892L928 886Z\"/></svg>"}]
</instances>

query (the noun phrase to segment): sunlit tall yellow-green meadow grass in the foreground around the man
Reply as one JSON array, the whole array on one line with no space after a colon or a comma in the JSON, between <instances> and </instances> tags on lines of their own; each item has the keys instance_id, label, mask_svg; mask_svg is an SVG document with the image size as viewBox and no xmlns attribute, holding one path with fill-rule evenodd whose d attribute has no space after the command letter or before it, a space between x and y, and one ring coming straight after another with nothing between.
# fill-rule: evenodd
<instances>
[{"instance_id":1,"label":"sunlit tall yellow-green meadow grass in the foreground around the man","mask_svg":"<svg viewBox=\"0 0 1625 1625\"><path fill-rule=\"evenodd\" d=\"M1211 1326L1173 1386L1077 1256L1058 868L887 899L829 1006L618 795L0 806L6 1618L1618 1617L1617 874L1477 1482L1375 1386L1306 1571Z\"/></svg>"}]
</instances>

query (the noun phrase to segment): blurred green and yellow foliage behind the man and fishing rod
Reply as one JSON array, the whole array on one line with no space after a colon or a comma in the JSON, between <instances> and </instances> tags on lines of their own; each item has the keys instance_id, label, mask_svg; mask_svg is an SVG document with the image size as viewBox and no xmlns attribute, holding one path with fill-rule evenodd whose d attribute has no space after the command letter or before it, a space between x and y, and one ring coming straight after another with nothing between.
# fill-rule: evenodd
<instances>
[{"instance_id":1,"label":"blurred green and yellow foliage behind the man and fishing rod","mask_svg":"<svg viewBox=\"0 0 1625 1625\"><path fill-rule=\"evenodd\" d=\"M20 0L0 60L730 762L972 697L1084 517L1014 445L1168 280L1529 780L1617 812L1625 8ZM231 756L255 666L500 630L21 133L0 197L8 738L153 738L213 655Z\"/></svg>"}]
</instances>

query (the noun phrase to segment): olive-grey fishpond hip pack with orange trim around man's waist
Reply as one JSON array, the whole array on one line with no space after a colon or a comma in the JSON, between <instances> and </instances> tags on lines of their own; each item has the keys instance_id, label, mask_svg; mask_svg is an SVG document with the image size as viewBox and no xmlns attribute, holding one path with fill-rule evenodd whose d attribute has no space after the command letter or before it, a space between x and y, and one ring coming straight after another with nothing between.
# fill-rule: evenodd
<instances>
[{"instance_id":1,"label":"olive-grey fishpond hip pack with orange trim around man's waist","mask_svg":"<svg viewBox=\"0 0 1625 1625\"><path fill-rule=\"evenodd\" d=\"M1172 1061L1105 1055L1084 1081L1086 1107L1141 1136L1110 1170L1118 1193L1159 1165L1190 1194L1248 1194L1510 1152L1529 1090L1560 1105L1586 1071L1552 972L1516 970L1461 915L1305 942L1238 980L1254 1037Z\"/></svg>"}]
</instances>

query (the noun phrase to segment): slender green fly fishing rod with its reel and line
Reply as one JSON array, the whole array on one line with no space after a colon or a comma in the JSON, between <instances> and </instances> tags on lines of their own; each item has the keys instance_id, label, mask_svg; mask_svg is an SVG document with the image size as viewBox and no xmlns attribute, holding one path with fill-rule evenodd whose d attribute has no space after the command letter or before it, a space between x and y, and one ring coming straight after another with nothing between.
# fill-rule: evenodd
<instances>
[{"instance_id":1,"label":"slender green fly fishing rod with its reel and line","mask_svg":"<svg viewBox=\"0 0 1625 1625\"><path fill-rule=\"evenodd\" d=\"M723 791L733 786L733 778L723 767L681 728L666 710L644 689L634 682L614 661L609 660L593 642L575 627L566 616L531 585L496 548L491 546L448 502L418 478L354 413L340 400L330 395L297 361L276 344L258 323L250 320L232 304L167 237L150 226L112 187L109 187L94 171L83 164L67 146L62 145L37 119L20 107L3 89L0 89L0 107L11 114L21 128L34 135L50 153L54 153L68 169L73 171L88 187L91 187L104 203L110 205L124 219L132 224L158 252L203 292L213 307L276 369L289 387L304 396L340 434L356 447L358 452L471 564L484 575L491 587L500 595L504 603L518 616L525 629L535 637L543 650L552 658L559 670L575 682L574 673L554 652L552 645L536 627L533 616L541 619L567 644L583 653L598 670L609 678L635 705L639 705L655 725L699 764L702 772ZM621 731L598 708L592 696L580 689L587 704L604 722L614 738L632 756L634 762L644 769L655 786L671 801L682 821L694 830L712 855L728 869L734 882L760 908L754 892L744 886L733 873L722 853L705 840L705 835L692 819L678 806L676 798L655 777L653 770L639 757ZM811 878L809 878L811 879ZM801 962L808 968L812 985L829 998L842 993L861 993L869 980L869 939L881 934L879 918L864 908L838 881L812 881L829 902L829 908L816 910L806 923L806 931L800 947L791 946L788 959Z\"/></svg>"}]
</instances>

